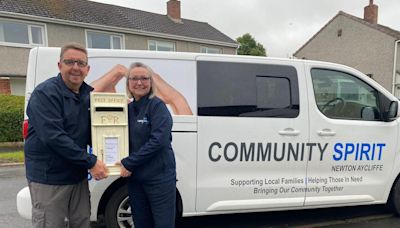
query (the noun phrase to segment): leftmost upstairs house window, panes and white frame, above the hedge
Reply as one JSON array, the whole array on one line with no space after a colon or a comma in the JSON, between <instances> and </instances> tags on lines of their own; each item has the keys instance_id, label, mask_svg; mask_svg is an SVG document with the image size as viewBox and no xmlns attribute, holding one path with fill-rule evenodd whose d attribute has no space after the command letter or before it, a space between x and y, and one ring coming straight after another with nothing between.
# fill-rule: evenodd
<instances>
[{"instance_id":1,"label":"leftmost upstairs house window, panes and white frame, above the hedge","mask_svg":"<svg viewBox=\"0 0 400 228\"><path fill-rule=\"evenodd\" d=\"M44 25L0 20L0 43L20 46L44 46Z\"/></svg>"}]
</instances>

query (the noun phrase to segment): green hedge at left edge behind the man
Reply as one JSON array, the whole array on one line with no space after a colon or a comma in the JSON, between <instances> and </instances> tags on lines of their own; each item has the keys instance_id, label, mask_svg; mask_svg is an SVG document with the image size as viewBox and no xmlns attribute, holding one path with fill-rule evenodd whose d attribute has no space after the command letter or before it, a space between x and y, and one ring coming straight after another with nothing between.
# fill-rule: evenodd
<instances>
[{"instance_id":1,"label":"green hedge at left edge behind the man","mask_svg":"<svg viewBox=\"0 0 400 228\"><path fill-rule=\"evenodd\" d=\"M21 142L25 97L0 95L0 142Z\"/></svg>"}]
</instances>

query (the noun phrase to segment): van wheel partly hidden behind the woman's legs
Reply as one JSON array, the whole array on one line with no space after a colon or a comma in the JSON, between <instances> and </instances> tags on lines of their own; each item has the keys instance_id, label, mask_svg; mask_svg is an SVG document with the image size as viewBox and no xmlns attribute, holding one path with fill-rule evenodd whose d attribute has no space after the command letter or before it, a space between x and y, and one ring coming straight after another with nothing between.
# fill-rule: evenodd
<instances>
[{"instance_id":1,"label":"van wheel partly hidden behind the woman's legs","mask_svg":"<svg viewBox=\"0 0 400 228\"><path fill-rule=\"evenodd\" d=\"M111 196L105 211L107 228L134 227L128 187L123 185Z\"/></svg>"}]
</instances>

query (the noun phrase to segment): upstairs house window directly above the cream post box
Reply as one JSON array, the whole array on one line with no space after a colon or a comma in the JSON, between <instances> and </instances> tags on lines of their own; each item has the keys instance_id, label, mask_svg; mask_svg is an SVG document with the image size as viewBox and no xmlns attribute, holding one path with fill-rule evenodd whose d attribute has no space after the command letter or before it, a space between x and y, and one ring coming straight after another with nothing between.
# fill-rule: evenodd
<instances>
[{"instance_id":1,"label":"upstairs house window directly above the cream post box","mask_svg":"<svg viewBox=\"0 0 400 228\"><path fill-rule=\"evenodd\" d=\"M123 49L123 35L86 31L88 48Z\"/></svg>"}]
</instances>

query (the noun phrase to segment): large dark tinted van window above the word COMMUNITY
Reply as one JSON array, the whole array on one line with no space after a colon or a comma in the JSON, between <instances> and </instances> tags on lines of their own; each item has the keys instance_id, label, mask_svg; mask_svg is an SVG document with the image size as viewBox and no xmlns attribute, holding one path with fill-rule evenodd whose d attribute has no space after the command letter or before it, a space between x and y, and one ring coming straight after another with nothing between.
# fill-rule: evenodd
<instances>
[{"instance_id":1,"label":"large dark tinted van window above the word COMMUNITY","mask_svg":"<svg viewBox=\"0 0 400 228\"><path fill-rule=\"evenodd\" d=\"M299 114L294 67L199 61L199 116L280 117Z\"/></svg>"}]
</instances>

